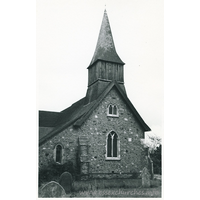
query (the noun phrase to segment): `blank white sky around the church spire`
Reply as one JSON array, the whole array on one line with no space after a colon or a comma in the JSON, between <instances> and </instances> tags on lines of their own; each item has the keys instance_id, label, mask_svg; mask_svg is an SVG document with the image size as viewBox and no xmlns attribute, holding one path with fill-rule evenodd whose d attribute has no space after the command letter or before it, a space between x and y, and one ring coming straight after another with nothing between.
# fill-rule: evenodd
<instances>
[{"instance_id":1,"label":"blank white sky around the church spire","mask_svg":"<svg viewBox=\"0 0 200 200\"><path fill-rule=\"evenodd\" d=\"M86 95L106 8L119 57L125 62L128 98L151 128L163 135L163 0L37 0L37 107L61 111Z\"/></svg>"}]
</instances>

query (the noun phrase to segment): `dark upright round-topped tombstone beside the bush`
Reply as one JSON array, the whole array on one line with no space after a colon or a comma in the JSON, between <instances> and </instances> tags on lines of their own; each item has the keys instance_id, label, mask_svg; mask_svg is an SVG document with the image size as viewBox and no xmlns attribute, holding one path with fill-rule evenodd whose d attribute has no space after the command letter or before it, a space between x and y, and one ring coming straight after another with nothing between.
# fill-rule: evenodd
<instances>
[{"instance_id":1,"label":"dark upright round-topped tombstone beside the bush","mask_svg":"<svg viewBox=\"0 0 200 200\"><path fill-rule=\"evenodd\" d=\"M73 185L72 175L69 172L62 173L59 184L64 188L66 194L71 193Z\"/></svg>"}]
</instances>

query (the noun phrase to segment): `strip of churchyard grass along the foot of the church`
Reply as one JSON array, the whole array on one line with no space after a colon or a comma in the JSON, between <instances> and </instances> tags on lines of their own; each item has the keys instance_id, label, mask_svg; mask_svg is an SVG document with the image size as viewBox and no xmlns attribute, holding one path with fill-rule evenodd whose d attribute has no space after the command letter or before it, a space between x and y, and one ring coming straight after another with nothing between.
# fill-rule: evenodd
<instances>
[{"instance_id":1,"label":"strip of churchyard grass along the foot of the church","mask_svg":"<svg viewBox=\"0 0 200 200\"><path fill-rule=\"evenodd\" d=\"M74 181L70 197L161 197L161 179L151 180L150 188L142 188L141 179Z\"/></svg>"}]
</instances>

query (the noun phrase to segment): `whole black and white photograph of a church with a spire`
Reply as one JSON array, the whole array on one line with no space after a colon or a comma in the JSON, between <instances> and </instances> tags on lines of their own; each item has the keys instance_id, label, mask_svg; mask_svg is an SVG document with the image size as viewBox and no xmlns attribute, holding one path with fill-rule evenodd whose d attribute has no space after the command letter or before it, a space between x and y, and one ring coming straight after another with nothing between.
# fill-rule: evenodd
<instances>
[{"instance_id":1,"label":"whole black and white photograph of a church with a spire","mask_svg":"<svg viewBox=\"0 0 200 200\"><path fill-rule=\"evenodd\" d=\"M38 198L162 198L163 0L37 0Z\"/></svg>"}]
</instances>

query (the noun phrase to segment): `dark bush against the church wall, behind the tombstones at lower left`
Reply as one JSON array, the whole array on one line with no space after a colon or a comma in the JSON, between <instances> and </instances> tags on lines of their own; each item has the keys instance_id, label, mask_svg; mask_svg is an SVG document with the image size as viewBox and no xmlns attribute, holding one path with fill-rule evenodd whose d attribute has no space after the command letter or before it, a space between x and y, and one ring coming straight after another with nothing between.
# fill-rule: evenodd
<instances>
[{"instance_id":1,"label":"dark bush against the church wall, behind the tombstones at lower left","mask_svg":"<svg viewBox=\"0 0 200 200\"><path fill-rule=\"evenodd\" d=\"M48 166L39 170L39 187L42 183L49 181L57 181L63 172L69 172L72 177L75 176L75 169L73 162L67 161L64 164L58 164L54 161L50 162Z\"/></svg>"}]
</instances>

